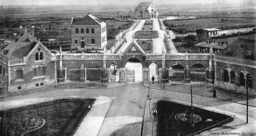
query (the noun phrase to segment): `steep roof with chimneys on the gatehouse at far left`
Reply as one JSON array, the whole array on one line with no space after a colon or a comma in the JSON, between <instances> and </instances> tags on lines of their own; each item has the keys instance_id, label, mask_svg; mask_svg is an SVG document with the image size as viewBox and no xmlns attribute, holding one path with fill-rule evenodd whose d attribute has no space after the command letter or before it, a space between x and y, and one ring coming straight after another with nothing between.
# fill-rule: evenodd
<instances>
[{"instance_id":1,"label":"steep roof with chimneys on the gatehouse at far left","mask_svg":"<svg viewBox=\"0 0 256 136\"><path fill-rule=\"evenodd\" d=\"M0 55L7 59L19 59L27 56L33 49L38 40L34 36L28 33L27 30L20 35L20 37L14 39L8 44L1 52Z\"/></svg>"}]
</instances>

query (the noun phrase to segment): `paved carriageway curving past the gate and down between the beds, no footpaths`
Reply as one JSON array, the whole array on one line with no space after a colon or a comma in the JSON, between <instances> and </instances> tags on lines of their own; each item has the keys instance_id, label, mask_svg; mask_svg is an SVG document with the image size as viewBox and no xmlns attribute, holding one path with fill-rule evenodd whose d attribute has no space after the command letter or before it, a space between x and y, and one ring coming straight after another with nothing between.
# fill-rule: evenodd
<instances>
[{"instance_id":1,"label":"paved carriageway curving past the gate and down between the beds, no footpaths","mask_svg":"<svg viewBox=\"0 0 256 136\"><path fill-rule=\"evenodd\" d=\"M140 135L141 126L144 117L145 103L147 101L148 88L144 87L141 83L126 84L123 87L112 89L62 89L36 94L28 94L24 96L17 96L12 98L5 98L0 100L2 108L9 105L16 106L28 104L28 102L38 102L40 99L58 96L107 96L112 98L112 103L108 113L101 125L98 135L106 136L116 133L120 135ZM155 89L152 93L154 98L172 98L181 101L190 102L190 94L180 92L172 92L167 90ZM220 101L214 98L203 96L194 96L193 102L205 106L223 108L223 105L230 102ZM239 107L245 108L245 106ZM231 112L236 112L237 108L228 109ZM251 132L252 127L247 128L247 132Z\"/></svg>"}]
</instances>

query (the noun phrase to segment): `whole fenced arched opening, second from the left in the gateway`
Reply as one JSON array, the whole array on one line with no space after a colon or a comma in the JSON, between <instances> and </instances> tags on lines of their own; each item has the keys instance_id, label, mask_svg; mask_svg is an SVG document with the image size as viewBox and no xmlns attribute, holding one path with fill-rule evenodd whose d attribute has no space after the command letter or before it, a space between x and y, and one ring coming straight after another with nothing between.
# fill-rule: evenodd
<instances>
[{"instance_id":1,"label":"whole fenced arched opening, second from the left in the gateway","mask_svg":"<svg viewBox=\"0 0 256 136\"><path fill-rule=\"evenodd\" d=\"M86 75L84 75L85 80L86 81L90 81L90 82L97 82L100 81L100 77L101 77L101 70L100 70L100 66L98 66L97 64L89 64L86 66L85 68Z\"/></svg>"}]
</instances>

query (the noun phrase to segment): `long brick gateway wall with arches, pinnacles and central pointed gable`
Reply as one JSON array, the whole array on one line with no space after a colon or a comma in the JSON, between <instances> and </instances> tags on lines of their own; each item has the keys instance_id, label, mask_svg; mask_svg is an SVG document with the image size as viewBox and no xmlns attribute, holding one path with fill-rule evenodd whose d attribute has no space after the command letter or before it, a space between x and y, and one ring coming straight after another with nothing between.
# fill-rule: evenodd
<instances>
[{"instance_id":1,"label":"long brick gateway wall with arches, pinnacles and central pointed gable","mask_svg":"<svg viewBox=\"0 0 256 136\"><path fill-rule=\"evenodd\" d=\"M133 51L131 51L133 49ZM136 49L136 51L134 51ZM103 70L103 82L111 82L111 71L110 67L113 64L118 65L118 70L115 71L119 76L119 82L126 82L126 71L125 64L131 58L136 58L142 64L142 77L143 82L149 82L149 65L154 63L157 65L157 75L159 83L165 81L178 81L178 79L173 79L173 74L178 74L180 76L179 82L190 83L191 81L196 82L193 79L192 75L195 74L194 67L195 65L200 68L201 79L200 82L213 83L214 82L214 70L212 63L212 57L214 54L188 54L188 53L180 53L179 55L173 55L168 53L158 53L158 54L148 54L136 47L135 44L131 44L131 47L127 48L124 53L120 54L63 54L60 51L60 54L56 57L56 66L57 66L57 80L58 82L66 82L67 77L65 77L65 72L67 71L67 67L70 64L76 64L80 69L80 82L86 82L89 72L86 72L86 67L90 64L93 66L91 69L99 69ZM180 65L180 70L176 72L170 72L170 67L173 65ZM78 69L78 68L76 68ZM88 69L87 69L88 70ZM168 72L166 72L168 71ZM100 72L101 73L101 72ZM101 74L98 74L101 76ZM182 77L184 76L184 77ZM98 77L101 80L101 77ZM97 79L97 80L98 80ZM112 80L116 81L116 80Z\"/></svg>"}]
</instances>

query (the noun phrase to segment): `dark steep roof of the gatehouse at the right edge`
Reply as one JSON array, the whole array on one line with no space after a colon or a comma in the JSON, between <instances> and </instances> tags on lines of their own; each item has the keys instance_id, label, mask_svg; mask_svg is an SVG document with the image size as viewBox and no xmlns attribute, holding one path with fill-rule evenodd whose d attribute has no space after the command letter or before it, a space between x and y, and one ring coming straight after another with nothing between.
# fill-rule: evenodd
<instances>
[{"instance_id":1,"label":"dark steep roof of the gatehouse at the right edge","mask_svg":"<svg viewBox=\"0 0 256 136\"><path fill-rule=\"evenodd\" d=\"M228 45L227 48L221 50L217 55L220 56L227 56L226 51L231 49L231 56L230 57L237 57L237 58L246 58L246 54L248 55L248 51L251 51L254 60L256 59L256 43L255 40L252 39L242 39L239 38L232 44ZM249 53L250 54L250 53Z\"/></svg>"}]
</instances>

